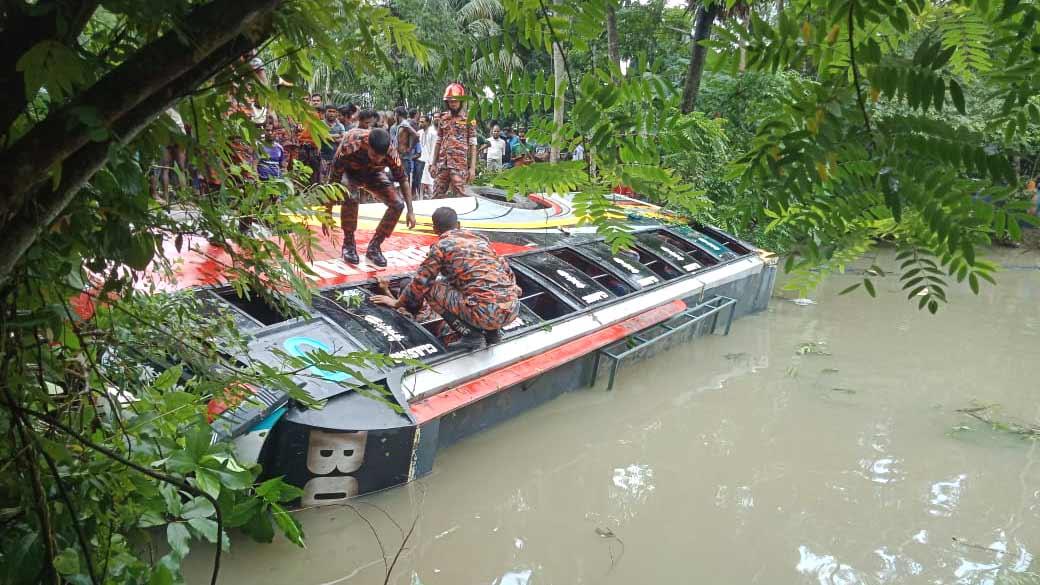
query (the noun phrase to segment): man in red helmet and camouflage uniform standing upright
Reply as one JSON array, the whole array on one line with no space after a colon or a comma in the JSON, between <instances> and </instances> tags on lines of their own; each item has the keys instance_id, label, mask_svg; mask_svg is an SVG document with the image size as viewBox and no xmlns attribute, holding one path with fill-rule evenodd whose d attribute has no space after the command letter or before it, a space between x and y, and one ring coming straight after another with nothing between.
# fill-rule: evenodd
<instances>
[{"instance_id":1,"label":"man in red helmet and camouflage uniform standing upright","mask_svg":"<svg viewBox=\"0 0 1040 585\"><path fill-rule=\"evenodd\" d=\"M466 118L460 98L466 96L462 83L444 90L448 110L437 121L437 146L430 174L434 177L434 199L444 197L448 188L454 197L466 196L466 183L476 176L476 123Z\"/></svg>"}]
</instances>

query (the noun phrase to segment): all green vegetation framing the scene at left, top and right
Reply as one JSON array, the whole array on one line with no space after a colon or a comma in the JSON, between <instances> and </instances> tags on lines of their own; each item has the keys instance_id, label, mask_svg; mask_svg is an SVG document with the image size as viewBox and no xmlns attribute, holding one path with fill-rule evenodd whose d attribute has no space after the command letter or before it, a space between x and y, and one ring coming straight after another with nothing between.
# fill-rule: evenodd
<instances>
[{"instance_id":1,"label":"all green vegetation framing the scene at left, top and right","mask_svg":"<svg viewBox=\"0 0 1040 585\"><path fill-rule=\"evenodd\" d=\"M528 124L554 151L584 145L589 164L495 182L581 192L612 241L628 237L606 213L617 185L788 251L806 285L886 240L908 298L933 312L948 286L993 279L980 247L1033 222L1035 1L17 0L0 25L4 583L179 582L206 540L222 543L215 582L232 528L303 541L280 507L294 488L256 483L205 412L243 384L308 397L229 357L243 340L226 315L147 295L145 269L161 276L168 251L199 241L225 250L214 261L243 295L288 308L311 294L315 239L287 213L338 189L305 187L298 168L246 180L234 151L259 130L238 105L327 137L310 91L428 106L460 79L478 119ZM212 193L151 196L171 143L219 178ZM384 358L313 359L353 372Z\"/></svg>"}]
</instances>

